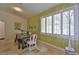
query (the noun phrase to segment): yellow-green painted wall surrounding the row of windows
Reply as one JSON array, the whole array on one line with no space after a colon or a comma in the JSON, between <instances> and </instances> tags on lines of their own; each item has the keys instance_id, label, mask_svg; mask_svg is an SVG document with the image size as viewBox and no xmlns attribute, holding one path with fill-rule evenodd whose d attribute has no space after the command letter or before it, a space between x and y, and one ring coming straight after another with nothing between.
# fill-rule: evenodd
<instances>
[{"instance_id":1,"label":"yellow-green painted wall surrounding the row of windows","mask_svg":"<svg viewBox=\"0 0 79 59\"><path fill-rule=\"evenodd\" d=\"M27 30L37 33L39 40L48 42L48 43L53 44L57 47L65 48L65 46L67 46L67 44L68 44L68 40L63 39L63 38L57 38L53 35L49 36L49 35L45 35L45 34L40 33L40 17L41 16L47 16L50 13L54 13L58 10L61 10L63 8L67 8L69 6L71 6L71 4L68 4L68 3L59 4L59 5L56 5L55 7L52 7L50 9L38 14L38 15L35 15L35 16L28 18L28 20L27 20Z\"/></svg>"}]
</instances>

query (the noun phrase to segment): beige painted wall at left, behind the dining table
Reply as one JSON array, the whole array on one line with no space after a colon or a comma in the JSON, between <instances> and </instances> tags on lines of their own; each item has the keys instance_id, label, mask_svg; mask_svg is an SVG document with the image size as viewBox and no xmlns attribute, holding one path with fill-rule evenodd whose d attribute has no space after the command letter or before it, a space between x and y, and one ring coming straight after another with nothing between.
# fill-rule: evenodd
<instances>
[{"instance_id":1,"label":"beige painted wall at left, behind the dining table","mask_svg":"<svg viewBox=\"0 0 79 59\"><path fill-rule=\"evenodd\" d=\"M5 40L11 41L15 38L15 29L14 29L14 23L19 22L22 24L22 28L26 30L26 19L23 19L21 17L18 17L13 14L9 14L7 12L0 11L0 21L3 21L5 23Z\"/></svg>"}]
</instances>

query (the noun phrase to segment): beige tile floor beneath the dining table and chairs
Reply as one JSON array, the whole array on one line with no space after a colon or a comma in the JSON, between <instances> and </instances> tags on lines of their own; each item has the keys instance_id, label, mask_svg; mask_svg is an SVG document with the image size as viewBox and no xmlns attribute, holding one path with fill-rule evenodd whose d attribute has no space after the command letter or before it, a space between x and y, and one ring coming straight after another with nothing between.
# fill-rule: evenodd
<instances>
[{"instance_id":1,"label":"beige tile floor beneath the dining table and chairs","mask_svg":"<svg viewBox=\"0 0 79 59\"><path fill-rule=\"evenodd\" d=\"M0 40L0 55L64 55L63 51L48 46L44 43L37 42L37 48L29 51L28 48L17 49L17 45L13 42L4 42Z\"/></svg>"}]
</instances>

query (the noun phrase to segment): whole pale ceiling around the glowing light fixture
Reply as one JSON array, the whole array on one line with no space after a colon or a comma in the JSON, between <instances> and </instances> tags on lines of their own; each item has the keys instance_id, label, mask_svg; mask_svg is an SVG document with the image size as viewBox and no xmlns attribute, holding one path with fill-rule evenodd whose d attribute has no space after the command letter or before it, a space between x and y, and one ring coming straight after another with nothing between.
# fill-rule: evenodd
<instances>
[{"instance_id":1,"label":"whole pale ceiling around the glowing light fixture","mask_svg":"<svg viewBox=\"0 0 79 59\"><path fill-rule=\"evenodd\" d=\"M0 3L0 10L27 18L39 14L55 5L57 5L57 3ZM15 11L12 9L13 6L20 7L23 12Z\"/></svg>"}]
</instances>

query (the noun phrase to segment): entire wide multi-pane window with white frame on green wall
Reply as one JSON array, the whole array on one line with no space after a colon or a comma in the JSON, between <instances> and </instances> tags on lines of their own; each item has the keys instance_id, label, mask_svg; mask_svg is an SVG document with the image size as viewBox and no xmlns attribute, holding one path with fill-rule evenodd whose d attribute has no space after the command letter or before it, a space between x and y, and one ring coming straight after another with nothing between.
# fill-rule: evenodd
<instances>
[{"instance_id":1,"label":"entire wide multi-pane window with white frame on green wall","mask_svg":"<svg viewBox=\"0 0 79 59\"><path fill-rule=\"evenodd\" d=\"M41 18L41 32L74 35L74 10L66 10Z\"/></svg>"}]
</instances>

